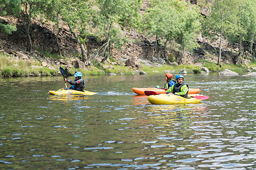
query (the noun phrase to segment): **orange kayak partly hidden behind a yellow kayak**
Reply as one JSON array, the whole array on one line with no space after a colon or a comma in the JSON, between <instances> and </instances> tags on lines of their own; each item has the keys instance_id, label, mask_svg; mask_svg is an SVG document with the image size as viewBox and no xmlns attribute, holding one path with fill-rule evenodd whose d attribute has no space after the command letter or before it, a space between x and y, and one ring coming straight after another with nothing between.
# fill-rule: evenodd
<instances>
[{"instance_id":1,"label":"orange kayak partly hidden behind a yellow kayak","mask_svg":"<svg viewBox=\"0 0 256 170\"><path fill-rule=\"evenodd\" d=\"M138 95L145 95L144 91L154 91L158 94L165 94L164 89L154 88L154 87L148 87L148 88L132 88L135 94ZM200 92L200 89L188 89L188 94L198 94Z\"/></svg>"}]
</instances>

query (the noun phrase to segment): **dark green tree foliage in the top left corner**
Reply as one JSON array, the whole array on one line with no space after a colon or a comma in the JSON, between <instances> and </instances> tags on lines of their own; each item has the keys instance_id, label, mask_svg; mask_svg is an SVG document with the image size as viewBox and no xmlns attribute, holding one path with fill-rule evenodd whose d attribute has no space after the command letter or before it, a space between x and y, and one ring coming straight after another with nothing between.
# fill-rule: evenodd
<instances>
[{"instance_id":1,"label":"dark green tree foliage in the top left corner","mask_svg":"<svg viewBox=\"0 0 256 170\"><path fill-rule=\"evenodd\" d=\"M0 0L0 16L16 15L19 11L21 11L21 0ZM0 18L0 32L11 34L16 31L15 25L4 24L1 21Z\"/></svg>"}]
</instances>

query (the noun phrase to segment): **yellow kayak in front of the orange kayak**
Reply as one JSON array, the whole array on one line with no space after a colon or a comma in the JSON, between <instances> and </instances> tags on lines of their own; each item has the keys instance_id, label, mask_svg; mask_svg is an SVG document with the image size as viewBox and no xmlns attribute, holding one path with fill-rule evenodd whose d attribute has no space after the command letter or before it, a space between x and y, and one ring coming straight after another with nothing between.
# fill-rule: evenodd
<instances>
[{"instance_id":1,"label":"yellow kayak in front of the orange kayak","mask_svg":"<svg viewBox=\"0 0 256 170\"><path fill-rule=\"evenodd\" d=\"M187 104L187 103L200 103L203 101L204 98L203 95L201 99L194 98L195 95L188 95L188 98L183 98L181 96L177 96L174 94L159 94L159 95L151 95L148 97L148 100L151 104ZM207 96L208 97L208 96Z\"/></svg>"}]
</instances>

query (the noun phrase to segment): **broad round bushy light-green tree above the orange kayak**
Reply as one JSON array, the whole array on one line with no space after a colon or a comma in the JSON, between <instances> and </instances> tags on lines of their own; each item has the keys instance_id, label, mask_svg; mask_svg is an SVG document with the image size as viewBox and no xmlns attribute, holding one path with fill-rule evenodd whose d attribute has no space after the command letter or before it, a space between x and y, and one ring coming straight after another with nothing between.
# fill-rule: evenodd
<instances>
[{"instance_id":1,"label":"broad round bushy light-green tree above the orange kayak","mask_svg":"<svg viewBox=\"0 0 256 170\"><path fill-rule=\"evenodd\" d=\"M181 45L182 51L197 47L195 40L196 33L201 30L200 15L198 8L186 1L151 1L146 26L151 35L164 42L164 57L166 45L171 41Z\"/></svg>"}]
</instances>

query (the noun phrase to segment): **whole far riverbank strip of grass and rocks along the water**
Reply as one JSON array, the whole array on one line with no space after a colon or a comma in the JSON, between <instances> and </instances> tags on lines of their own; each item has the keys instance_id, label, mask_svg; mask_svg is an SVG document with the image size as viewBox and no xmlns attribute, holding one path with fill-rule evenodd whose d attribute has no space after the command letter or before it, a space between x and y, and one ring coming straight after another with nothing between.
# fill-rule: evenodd
<instances>
[{"instance_id":1,"label":"whole far riverbank strip of grass and rocks along the water","mask_svg":"<svg viewBox=\"0 0 256 170\"><path fill-rule=\"evenodd\" d=\"M48 60L55 60L48 58ZM213 62L202 60L197 64L178 65L173 63L159 64L157 62L149 62L148 60L136 59L135 64L127 62L110 62L97 63L83 69L73 67L72 59L62 58L56 61L57 64L48 64L41 62L36 58L20 58L11 56L5 53L0 53L0 77L44 77L44 76L60 76L59 67L68 69L68 75L73 75L75 72L82 72L83 75L117 75L117 74L155 74L171 72L178 73L194 73L201 74L202 72L221 72L224 69L230 69L238 74L256 71L256 62L250 64L222 64L218 66ZM207 71L208 70L208 71Z\"/></svg>"}]
</instances>

